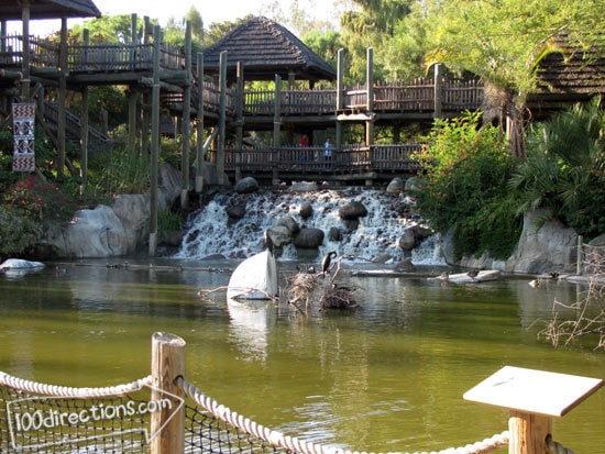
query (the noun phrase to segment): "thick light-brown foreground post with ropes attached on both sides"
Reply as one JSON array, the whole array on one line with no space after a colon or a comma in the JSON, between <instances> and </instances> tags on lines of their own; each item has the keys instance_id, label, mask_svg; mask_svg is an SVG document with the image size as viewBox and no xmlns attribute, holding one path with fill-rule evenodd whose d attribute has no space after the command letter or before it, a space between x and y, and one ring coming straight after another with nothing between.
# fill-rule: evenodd
<instances>
[{"instance_id":1,"label":"thick light-brown foreground post with ropes attached on both sides","mask_svg":"<svg viewBox=\"0 0 605 454\"><path fill-rule=\"evenodd\" d=\"M176 379L185 376L185 341L174 334L156 332L152 336L152 400L170 400L170 406L152 413L152 454L183 453L185 450L185 407L177 411L182 401L166 394L183 396Z\"/></svg>"}]
</instances>

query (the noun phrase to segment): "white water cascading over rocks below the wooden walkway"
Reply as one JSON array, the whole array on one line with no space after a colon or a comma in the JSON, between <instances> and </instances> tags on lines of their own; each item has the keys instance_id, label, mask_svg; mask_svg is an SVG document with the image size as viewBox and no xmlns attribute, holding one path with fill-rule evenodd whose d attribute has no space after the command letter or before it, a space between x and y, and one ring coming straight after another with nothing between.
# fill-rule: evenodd
<instances>
[{"instance_id":1,"label":"white water cascading over rocks below the wooden walkway","mask_svg":"<svg viewBox=\"0 0 605 454\"><path fill-rule=\"evenodd\" d=\"M367 209L355 230L348 230L339 217L339 209L359 201ZM312 207L314 214L302 219L300 208ZM244 215L230 219L228 207L245 206ZM398 247L406 229L420 222L414 213L414 200L377 189L349 188L315 191L260 191L255 193L218 193L187 222L178 258L204 258L221 254L228 258L248 258L264 246L263 233L285 217L292 217L300 228L321 229L326 236L318 256L329 251L352 255L360 259L374 259L389 255L392 262L405 257ZM337 228L341 240L330 239L329 231ZM442 265L439 242L430 236L413 252L411 262L420 265ZM294 245L283 248L279 259L297 259L301 254ZM308 254L304 254L309 257Z\"/></svg>"}]
</instances>

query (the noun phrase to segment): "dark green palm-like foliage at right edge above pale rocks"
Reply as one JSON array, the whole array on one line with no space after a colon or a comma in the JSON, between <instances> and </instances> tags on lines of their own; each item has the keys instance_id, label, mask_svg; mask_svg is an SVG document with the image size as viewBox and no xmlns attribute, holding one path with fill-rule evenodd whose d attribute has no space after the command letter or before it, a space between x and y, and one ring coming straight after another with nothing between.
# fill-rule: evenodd
<instances>
[{"instance_id":1,"label":"dark green palm-like foliage at right edge above pale rocks","mask_svg":"<svg viewBox=\"0 0 605 454\"><path fill-rule=\"evenodd\" d=\"M543 208L587 240L605 232L605 111L600 99L536 124L510 187L518 211Z\"/></svg>"}]
</instances>

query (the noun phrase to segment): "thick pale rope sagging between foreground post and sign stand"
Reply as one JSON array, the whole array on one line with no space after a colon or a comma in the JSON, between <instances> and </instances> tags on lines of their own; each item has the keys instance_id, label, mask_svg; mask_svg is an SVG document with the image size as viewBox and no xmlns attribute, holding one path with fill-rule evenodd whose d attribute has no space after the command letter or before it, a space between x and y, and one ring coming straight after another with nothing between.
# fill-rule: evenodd
<instances>
[{"instance_id":1,"label":"thick pale rope sagging between foreground post and sign stand","mask_svg":"<svg viewBox=\"0 0 605 454\"><path fill-rule=\"evenodd\" d=\"M257 424L251 421L249 418L244 418L234 411L231 411L228 407L224 407L217 402L215 399L206 396L193 384L185 378L179 377L177 385L183 391L191 398L197 405L211 412L215 418L228 422L235 429L254 435L258 440L271 443L274 446L284 447L286 450L300 453L300 454L360 454L356 451L341 450L337 447L323 446L321 444L306 442L295 436L286 436L282 432L276 432L264 425ZM442 451L429 452L415 452L414 454L482 454L490 451L494 451L501 446L508 444L508 431L497 433L490 439L479 441L473 444L468 444L461 447L450 447ZM361 453L366 454L366 453ZM400 453L403 454L403 453ZM411 454L411 453L406 453Z\"/></svg>"}]
</instances>

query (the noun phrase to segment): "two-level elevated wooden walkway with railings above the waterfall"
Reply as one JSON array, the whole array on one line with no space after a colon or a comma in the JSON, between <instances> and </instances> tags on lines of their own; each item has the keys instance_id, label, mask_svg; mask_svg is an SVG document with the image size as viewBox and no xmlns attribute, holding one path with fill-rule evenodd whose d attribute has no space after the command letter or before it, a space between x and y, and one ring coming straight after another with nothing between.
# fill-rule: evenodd
<instances>
[{"instance_id":1,"label":"two-level elevated wooden walkway with railings above the waterfall","mask_svg":"<svg viewBox=\"0 0 605 454\"><path fill-rule=\"evenodd\" d=\"M201 153L198 147L198 156L217 163L218 171L235 178L245 174L271 177L273 181L302 178L373 180L391 178L395 173L413 174L418 165L410 156L419 150L419 144L380 145L371 140L361 145L342 144L339 128L352 123L374 126L430 122L436 117L454 117L464 110L476 110L483 100L483 87L476 80L450 80L441 76L420 78L411 84L396 81L317 89L282 89L280 79L276 79L274 90L238 90L238 87L221 90L220 84L204 80L204 73L188 62L184 52L166 44L157 47L154 44L90 44L85 38L84 43L68 45L65 49L50 38L0 36L0 89L8 81L13 84L23 77L43 87L57 87L64 78L66 87L75 91L95 85L128 85L131 93L140 96L148 92L154 84L154 53L158 52L161 107L174 118L180 115L180 120L185 115L201 120L207 129L218 129L222 119L228 137L222 153L215 143ZM21 73L24 60L28 60L26 76ZM48 122L57 130L57 107L46 104L45 111ZM131 117L133 114L136 115L131 112ZM68 112L66 115L77 119ZM135 119L135 123L140 124L141 119ZM294 145L301 131L331 128L337 128L337 144L330 160L323 157L320 146L311 144L304 150ZM274 137L283 132L284 142L289 145L284 146L278 141L272 146L252 147L230 139L241 137L248 131L274 131ZM67 139L77 142L78 128L73 126L68 132ZM89 131L89 139L97 135L98 131Z\"/></svg>"}]
</instances>

